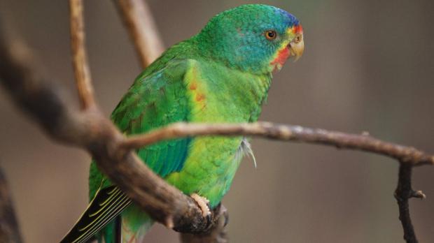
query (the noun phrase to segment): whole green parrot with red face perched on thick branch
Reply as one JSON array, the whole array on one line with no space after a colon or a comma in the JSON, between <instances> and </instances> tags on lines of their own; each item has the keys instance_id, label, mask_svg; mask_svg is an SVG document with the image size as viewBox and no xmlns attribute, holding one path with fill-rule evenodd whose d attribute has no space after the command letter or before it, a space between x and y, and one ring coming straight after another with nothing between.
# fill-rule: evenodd
<instances>
[{"instance_id":1,"label":"whole green parrot with red face perched on thick branch","mask_svg":"<svg viewBox=\"0 0 434 243\"><path fill-rule=\"evenodd\" d=\"M297 18L279 8L248 4L213 17L199 34L166 50L134 81L111 119L126 135L176 121L258 120L272 72L304 50ZM137 150L155 173L187 195L216 207L244 154L243 137L180 138ZM143 242L153 220L90 165L90 204L62 242ZM203 209L203 208L202 208ZM208 208L207 208L208 209ZM206 209L203 209L206 211ZM205 212L204 211L204 212Z\"/></svg>"}]
</instances>

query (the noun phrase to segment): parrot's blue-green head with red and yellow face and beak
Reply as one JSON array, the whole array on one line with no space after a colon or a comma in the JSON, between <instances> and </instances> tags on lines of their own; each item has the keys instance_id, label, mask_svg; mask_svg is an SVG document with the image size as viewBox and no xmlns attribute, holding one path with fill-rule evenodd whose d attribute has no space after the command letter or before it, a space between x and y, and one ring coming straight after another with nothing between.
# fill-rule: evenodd
<instances>
[{"instance_id":1,"label":"parrot's blue-green head with red and yellow face and beak","mask_svg":"<svg viewBox=\"0 0 434 243\"><path fill-rule=\"evenodd\" d=\"M300 22L280 8L248 4L209 20L196 36L201 52L225 65L251 73L280 70L304 50Z\"/></svg>"}]
</instances>

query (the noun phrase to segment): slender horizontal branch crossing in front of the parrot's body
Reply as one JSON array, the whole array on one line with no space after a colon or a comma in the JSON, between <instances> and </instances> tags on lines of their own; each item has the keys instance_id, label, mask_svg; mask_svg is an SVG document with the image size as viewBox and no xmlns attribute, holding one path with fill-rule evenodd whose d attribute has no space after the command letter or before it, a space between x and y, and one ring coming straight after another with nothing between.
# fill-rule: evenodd
<instances>
[{"instance_id":1,"label":"slender horizontal branch crossing in front of the parrot's body","mask_svg":"<svg viewBox=\"0 0 434 243\"><path fill-rule=\"evenodd\" d=\"M326 131L302 126L277 125L269 122L254 124L186 124L176 123L151 131L134 135L123 142L125 149L138 149L160 140L196 135L253 135L256 137L293 142L308 142L331 145L339 149L356 149L375 154L390 156L410 165L434 164L434 155L391 142L384 142L370 135Z\"/></svg>"}]
</instances>

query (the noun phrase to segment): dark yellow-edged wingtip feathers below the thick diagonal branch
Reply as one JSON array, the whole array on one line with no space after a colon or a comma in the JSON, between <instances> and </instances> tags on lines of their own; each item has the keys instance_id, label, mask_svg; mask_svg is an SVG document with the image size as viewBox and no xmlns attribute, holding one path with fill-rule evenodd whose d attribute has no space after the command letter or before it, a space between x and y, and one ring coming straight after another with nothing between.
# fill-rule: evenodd
<instances>
[{"instance_id":1,"label":"dark yellow-edged wingtip feathers below the thick diagonal branch","mask_svg":"<svg viewBox=\"0 0 434 243\"><path fill-rule=\"evenodd\" d=\"M86 211L60 243L87 242L130 205L130 202L130 198L127 198L117 186L109 186L97 191Z\"/></svg>"}]
</instances>

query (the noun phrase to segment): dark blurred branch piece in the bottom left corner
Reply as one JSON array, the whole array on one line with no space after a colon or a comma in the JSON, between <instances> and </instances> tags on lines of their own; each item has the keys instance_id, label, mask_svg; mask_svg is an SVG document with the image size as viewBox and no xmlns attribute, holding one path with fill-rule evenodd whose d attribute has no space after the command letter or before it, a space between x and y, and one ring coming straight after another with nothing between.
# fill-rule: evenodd
<instances>
[{"instance_id":1,"label":"dark blurred branch piece in the bottom left corner","mask_svg":"<svg viewBox=\"0 0 434 243\"><path fill-rule=\"evenodd\" d=\"M0 169L0 242L20 243L21 235L6 178Z\"/></svg>"}]
</instances>

